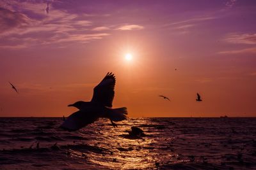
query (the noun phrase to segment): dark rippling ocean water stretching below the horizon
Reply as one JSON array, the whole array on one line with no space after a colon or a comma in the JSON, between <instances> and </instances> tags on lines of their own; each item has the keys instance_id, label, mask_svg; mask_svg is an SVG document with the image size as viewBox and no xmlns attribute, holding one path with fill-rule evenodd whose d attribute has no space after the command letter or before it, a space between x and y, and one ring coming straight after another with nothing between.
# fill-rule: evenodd
<instances>
[{"instance_id":1,"label":"dark rippling ocean water stretching below the horizon","mask_svg":"<svg viewBox=\"0 0 256 170\"><path fill-rule=\"evenodd\" d=\"M0 169L256 169L256 118L0 118ZM130 136L132 126L145 136Z\"/></svg>"}]
</instances>

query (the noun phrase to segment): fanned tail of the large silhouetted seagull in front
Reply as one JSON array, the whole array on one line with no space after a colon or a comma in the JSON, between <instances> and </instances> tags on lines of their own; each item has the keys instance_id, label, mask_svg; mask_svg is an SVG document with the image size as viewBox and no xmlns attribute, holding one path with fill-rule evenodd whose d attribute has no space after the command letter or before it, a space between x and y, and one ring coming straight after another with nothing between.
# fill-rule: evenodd
<instances>
[{"instance_id":1,"label":"fanned tail of the large silhouetted seagull in front","mask_svg":"<svg viewBox=\"0 0 256 170\"><path fill-rule=\"evenodd\" d=\"M112 108L107 108L107 117L110 119L110 120L113 120L115 122L119 122L119 121L122 121L122 120L125 120L127 119L127 108L115 108L115 109L112 109Z\"/></svg>"}]
</instances>

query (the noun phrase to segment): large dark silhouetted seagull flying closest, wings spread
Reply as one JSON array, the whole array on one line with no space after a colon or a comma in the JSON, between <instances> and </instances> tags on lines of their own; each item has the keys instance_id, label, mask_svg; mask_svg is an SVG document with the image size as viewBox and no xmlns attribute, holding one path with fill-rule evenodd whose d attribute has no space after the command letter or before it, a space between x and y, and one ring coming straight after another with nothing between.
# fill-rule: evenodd
<instances>
[{"instance_id":1,"label":"large dark silhouetted seagull flying closest, wings spread","mask_svg":"<svg viewBox=\"0 0 256 170\"><path fill-rule=\"evenodd\" d=\"M127 118L127 108L111 108L115 96L115 75L108 73L93 89L93 97L89 102L77 101L73 106L79 111L72 113L60 127L68 131L76 131L82 127L92 124L98 118L109 118L112 125L117 126L113 121L119 122Z\"/></svg>"}]
</instances>

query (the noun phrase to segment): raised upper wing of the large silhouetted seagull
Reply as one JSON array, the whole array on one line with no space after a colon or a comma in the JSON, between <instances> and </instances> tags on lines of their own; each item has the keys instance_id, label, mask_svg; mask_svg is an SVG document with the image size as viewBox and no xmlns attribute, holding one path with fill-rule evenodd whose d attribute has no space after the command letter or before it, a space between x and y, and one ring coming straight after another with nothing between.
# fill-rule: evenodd
<instances>
[{"instance_id":1,"label":"raised upper wing of the large silhouetted seagull","mask_svg":"<svg viewBox=\"0 0 256 170\"><path fill-rule=\"evenodd\" d=\"M108 73L99 85L93 89L93 103L100 103L104 106L112 107L112 102L115 96L116 78L113 73Z\"/></svg>"}]
</instances>

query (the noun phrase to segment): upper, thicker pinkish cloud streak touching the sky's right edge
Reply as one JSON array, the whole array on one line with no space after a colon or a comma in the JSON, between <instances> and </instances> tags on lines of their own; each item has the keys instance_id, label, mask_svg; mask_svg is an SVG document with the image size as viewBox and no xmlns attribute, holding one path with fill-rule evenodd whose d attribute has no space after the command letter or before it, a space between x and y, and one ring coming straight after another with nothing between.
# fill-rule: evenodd
<instances>
[{"instance_id":1,"label":"upper, thicker pinkish cloud streak touching the sky's right edge","mask_svg":"<svg viewBox=\"0 0 256 170\"><path fill-rule=\"evenodd\" d=\"M256 45L256 34L228 34L224 41L228 43L239 43L247 45Z\"/></svg>"}]
</instances>

